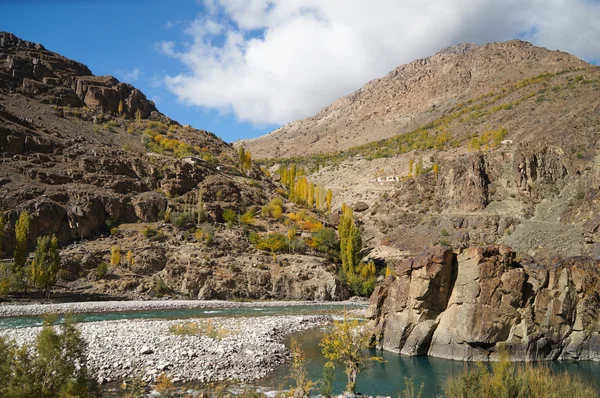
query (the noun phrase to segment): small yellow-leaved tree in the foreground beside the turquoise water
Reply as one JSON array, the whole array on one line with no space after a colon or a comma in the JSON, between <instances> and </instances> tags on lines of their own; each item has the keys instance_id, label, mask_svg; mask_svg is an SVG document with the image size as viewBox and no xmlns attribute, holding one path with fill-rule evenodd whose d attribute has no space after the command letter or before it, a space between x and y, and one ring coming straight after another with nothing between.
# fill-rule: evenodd
<instances>
[{"instance_id":1,"label":"small yellow-leaved tree in the foreground beside the turquoise water","mask_svg":"<svg viewBox=\"0 0 600 398\"><path fill-rule=\"evenodd\" d=\"M348 376L346 391L351 394L356 392L356 376L361 368L369 361L381 361L381 358L371 357L366 351L371 335L371 330L360 325L358 319L349 320L344 314L342 321L333 322L333 327L319 344L325 359L345 366Z\"/></svg>"}]
</instances>

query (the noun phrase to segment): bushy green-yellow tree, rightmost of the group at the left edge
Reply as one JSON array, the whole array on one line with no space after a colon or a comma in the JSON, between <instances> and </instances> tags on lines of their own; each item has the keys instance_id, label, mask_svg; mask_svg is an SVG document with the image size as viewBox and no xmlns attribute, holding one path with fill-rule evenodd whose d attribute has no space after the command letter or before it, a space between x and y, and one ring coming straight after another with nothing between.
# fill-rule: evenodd
<instances>
[{"instance_id":1,"label":"bushy green-yellow tree, rightmost of the group at the left edge","mask_svg":"<svg viewBox=\"0 0 600 398\"><path fill-rule=\"evenodd\" d=\"M46 298L50 296L50 289L56 284L59 269L60 254L56 236L39 237L35 255L31 262L31 282L35 289L45 292Z\"/></svg>"}]
</instances>

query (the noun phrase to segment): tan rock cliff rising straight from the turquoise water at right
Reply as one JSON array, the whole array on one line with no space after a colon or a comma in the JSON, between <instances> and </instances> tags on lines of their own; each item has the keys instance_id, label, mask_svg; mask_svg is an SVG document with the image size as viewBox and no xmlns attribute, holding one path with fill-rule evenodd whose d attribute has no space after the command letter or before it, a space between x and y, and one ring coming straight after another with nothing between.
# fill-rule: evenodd
<instances>
[{"instance_id":1,"label":"tan rock cliff rising straight from the turquoise water at right","mask_svg":"<svg viewBox=\"0 0 600 398\"><path fill-rule=\"evenodd\" d=\"M600 361L595 260L517 261L506 246L405 260L371 296L379 347L456 360Z\"/></svg>"}]
</instances>

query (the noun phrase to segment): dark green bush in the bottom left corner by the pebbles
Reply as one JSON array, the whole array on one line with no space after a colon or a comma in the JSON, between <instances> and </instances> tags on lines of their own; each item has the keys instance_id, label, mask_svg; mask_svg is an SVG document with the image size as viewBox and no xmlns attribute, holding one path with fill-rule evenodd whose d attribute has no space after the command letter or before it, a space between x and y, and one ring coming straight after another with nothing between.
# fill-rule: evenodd
<instances>
[{"instance_id":1,"label":"dark green bush in the bottom left corner by the pebbles","mask_svg":"<svg viewBox=\"0 0 600 398\"><path fill-rule=\"evenodd\" d=\"M36 339L37 355L0 338L0 396L4 398L91 398L100 392L87 368L86 344L66 320L57 333L45 322Z\"/></svg>"}]
</instances>

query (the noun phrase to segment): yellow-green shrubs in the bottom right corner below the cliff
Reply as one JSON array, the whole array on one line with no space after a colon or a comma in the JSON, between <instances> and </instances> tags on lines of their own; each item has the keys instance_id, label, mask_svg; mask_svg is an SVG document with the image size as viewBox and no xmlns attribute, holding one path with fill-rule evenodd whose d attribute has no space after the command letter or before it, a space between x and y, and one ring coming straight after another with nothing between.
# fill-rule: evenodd
<instances>
[{"instance_id":1,"label":"yellow-green shrubs in the bottom right corner below the cliff","mask_svg":"<svg viewBox=\"0 0 600 398\"><path fill-rule=\"evenodd\" d=\"M546 366L513 365L508 360L495 362L491 369L479 363L460 376L446 381L448 398L591 398L597 392L568 373L552 372Z\"/></svg>"}]
</instances>

